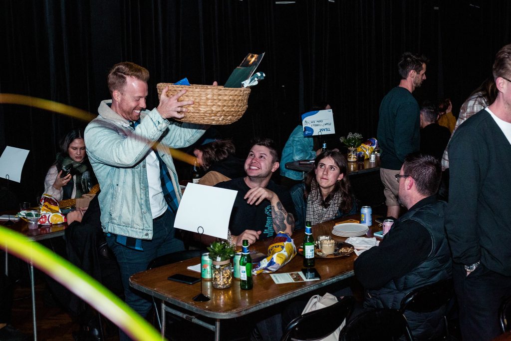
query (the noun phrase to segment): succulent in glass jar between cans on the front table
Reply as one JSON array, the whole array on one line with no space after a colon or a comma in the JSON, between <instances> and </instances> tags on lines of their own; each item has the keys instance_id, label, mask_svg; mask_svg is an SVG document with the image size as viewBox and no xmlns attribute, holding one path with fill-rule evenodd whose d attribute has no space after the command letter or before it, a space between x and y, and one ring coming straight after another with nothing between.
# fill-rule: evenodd
<instances>
[{"instance_id":1,"label":"succulent in glass jar between cans on the front table","mask_svg":"<svg viewBox=\"0 0 511 341\"><path fill-rule=\"evenodd\" d=\"M227 241L214 241L207 247L210 252L212 285L216 289L230 287L233 282L230 259L234 256L234 247Z\"/></svg>"}]
</instances>

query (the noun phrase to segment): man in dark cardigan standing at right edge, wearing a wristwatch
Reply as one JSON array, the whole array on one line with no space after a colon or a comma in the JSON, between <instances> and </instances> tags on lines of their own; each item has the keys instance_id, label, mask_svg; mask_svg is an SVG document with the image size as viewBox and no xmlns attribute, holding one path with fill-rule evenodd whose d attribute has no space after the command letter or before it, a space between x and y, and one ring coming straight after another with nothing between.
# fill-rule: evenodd
<instances>
[{"instance_id":1,"label":"man in dark cardigan standing at right edge, wearing a wristwatch","mask_svg":"<svg viewBox=\"0 0 511 341\"><path fill-rule=\"evenodd\" d=\"M497 53L493 77L497 98L448 146L446 230L463 340L499 335L499 306L511 295L511 44Z\"/></svg>"}]
</instances>

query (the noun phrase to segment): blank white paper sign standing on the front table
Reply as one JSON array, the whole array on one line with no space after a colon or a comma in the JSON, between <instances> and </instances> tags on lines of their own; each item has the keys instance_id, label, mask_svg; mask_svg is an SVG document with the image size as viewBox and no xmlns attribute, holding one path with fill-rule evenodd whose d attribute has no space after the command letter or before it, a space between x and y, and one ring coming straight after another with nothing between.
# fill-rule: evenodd
<instances>
[{"instance_id":1,"label":"blank white paper sign standing on the front table","mask_svg":"<svg viewBox=\"0 0 511 341\"><path fill-rule=\"evenodd\" d=\"M230 213L238 191L189 183L179 202L174 227L227 239Z\"/></svg>"}]
</instances>

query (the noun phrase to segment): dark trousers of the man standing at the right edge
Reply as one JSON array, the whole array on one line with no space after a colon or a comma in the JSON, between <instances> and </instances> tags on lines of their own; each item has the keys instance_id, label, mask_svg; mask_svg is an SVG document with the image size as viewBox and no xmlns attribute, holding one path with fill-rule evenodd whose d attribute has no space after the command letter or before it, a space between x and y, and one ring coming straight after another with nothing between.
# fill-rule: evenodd
<instances>
[{"instance_id":1,"label":"dark trousers of the man standing at the right edge","mask_svg":"<svg viewBox=\"0 0 511 341\"><path fill-rule=\"evenodd\" d=\"M482 263L467 276L463 265L453 266L463 341L491 340L501 334L499 307L511 294L511 277L497 274Z\"/></svg>"}]
</instances>

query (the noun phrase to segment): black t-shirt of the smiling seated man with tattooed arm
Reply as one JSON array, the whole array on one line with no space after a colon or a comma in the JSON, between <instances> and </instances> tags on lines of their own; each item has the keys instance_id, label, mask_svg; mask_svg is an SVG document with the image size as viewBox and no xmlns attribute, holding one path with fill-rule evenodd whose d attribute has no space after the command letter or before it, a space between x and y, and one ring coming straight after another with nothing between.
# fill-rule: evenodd
<instances>
[{"instance_id":1,"label":"black t-shirt of the smiling seated man with tattooed arm","mask_svg":"<svg viewBox=\"0 0 511 341\"><path fill-rule=\"evenodd\" d=\"M250 187L245 184L244 177L218 183L215 187L238 191L229 221L229 229L234 236L239 236L245 230L261 231L260 240L271 238L275 235L271 219L270 201L263 200L257 206L254 204L249 205L247 200L243 198L250 190ZM280 199L284 209L294 216L293 201L287 188L275 184L272 180L270 180L266 188L274 192L278 199Z\"/></svg>"}]
</instances>

